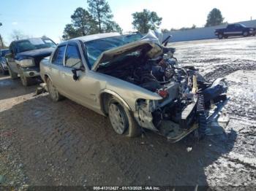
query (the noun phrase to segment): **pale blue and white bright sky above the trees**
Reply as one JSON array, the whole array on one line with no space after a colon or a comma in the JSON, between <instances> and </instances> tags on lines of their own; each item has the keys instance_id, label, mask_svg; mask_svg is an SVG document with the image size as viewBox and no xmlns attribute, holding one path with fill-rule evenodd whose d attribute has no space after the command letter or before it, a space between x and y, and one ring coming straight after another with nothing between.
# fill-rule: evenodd
<instances>
[{"instance_id":1,"label":"pale blue and white bright sky above the trees","mask_svg":"<svg viewBox=\"0 0 256 191\"><path fill-rule=\"evenodd\" d=\"M160 28L202 27L208 12L214 7L222 12L225 21L234 23L256 19L256 1L246 0L107 0L113 20L124 31L132 31L132 13L149 9L162 17ZM71 23L70 15L77 7L87 9L86 0L1 0L0 34L8 45L12 31L28 36L48 36L60 42L64 27Z\"/></svg>"}]
</instances>

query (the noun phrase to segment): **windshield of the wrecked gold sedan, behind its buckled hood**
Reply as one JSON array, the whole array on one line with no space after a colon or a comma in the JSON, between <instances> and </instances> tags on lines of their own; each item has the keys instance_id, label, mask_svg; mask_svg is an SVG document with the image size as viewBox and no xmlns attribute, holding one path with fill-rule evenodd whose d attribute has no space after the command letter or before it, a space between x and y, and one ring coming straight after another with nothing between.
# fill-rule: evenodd
<instances>
[{"instance_id":1,"label":"windshield of the wrecked gold sedan, behind its buckled hood","mask_svg":"<svg viewBox=\"0 0 256 191\"><path fill-rule=\"evenodd\" d=\"M97 61L102 52L138 41L141 38L141 34L129 34L85 42L90 67L94 65L94 62Z\"/></svg>"}]
</instances>

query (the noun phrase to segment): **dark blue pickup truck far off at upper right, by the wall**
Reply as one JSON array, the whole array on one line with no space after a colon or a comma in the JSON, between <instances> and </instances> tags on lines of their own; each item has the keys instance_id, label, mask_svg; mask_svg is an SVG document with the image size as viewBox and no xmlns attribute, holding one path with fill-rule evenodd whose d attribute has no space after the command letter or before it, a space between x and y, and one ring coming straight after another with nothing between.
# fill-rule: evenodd
<instances>
[{"instance_id":1,"label":"dark blue pickup truck far off at upper right, by the wall","mask_svg":"<svg viewBox=\"0 0 256 191\"><path fill-rule=\"evenodd\" d=\"M246 27L243 24L230 24L227 28L217 28L215 35L219 39L227 39L228 36L255 36L256 28Z\"/></svg>"}]
</instances>

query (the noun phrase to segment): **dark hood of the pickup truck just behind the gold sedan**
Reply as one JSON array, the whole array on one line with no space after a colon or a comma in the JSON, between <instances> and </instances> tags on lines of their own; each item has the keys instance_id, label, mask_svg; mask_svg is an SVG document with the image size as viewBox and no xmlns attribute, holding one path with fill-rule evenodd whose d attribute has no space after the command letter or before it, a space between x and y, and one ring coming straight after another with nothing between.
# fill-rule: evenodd
<instances>
[{"instance_id":1,"label":"dark hood of the pickup truck just behind the gold sedan","mask_svg":"<svg viewBox=\"0 0 256 191\"><path fill-rule=\"evenodd\" d=\"M15 60L22 60L23 58L44 58L47 57L53 52L54 47L42 48L37 50L29 50L26 52L20 52L15 56Z\"/></svg>"}]
</instances>

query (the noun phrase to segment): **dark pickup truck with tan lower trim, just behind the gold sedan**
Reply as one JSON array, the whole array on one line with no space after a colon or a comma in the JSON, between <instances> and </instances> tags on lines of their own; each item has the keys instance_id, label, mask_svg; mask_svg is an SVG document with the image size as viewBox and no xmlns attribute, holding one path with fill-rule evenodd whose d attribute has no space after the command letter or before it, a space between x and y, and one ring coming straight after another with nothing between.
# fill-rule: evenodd
<instances>
[{"instance_id":1,"label":"dark pickup truck with tan lower trim, just behind the gold sedan","mask_svg":"<svg viewBox=\"0 0 256 191\"><path fill-rule=\"evenodd\" d=\"M54 47L56 44L47 37L11 42L10 54L5 55L10 77L16 79L19 75L23 86L31 85L35 78L40 77L40 61L48 57Z\"/></svg>"}]
</instances>

